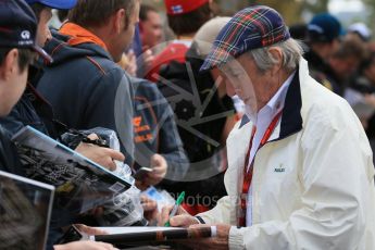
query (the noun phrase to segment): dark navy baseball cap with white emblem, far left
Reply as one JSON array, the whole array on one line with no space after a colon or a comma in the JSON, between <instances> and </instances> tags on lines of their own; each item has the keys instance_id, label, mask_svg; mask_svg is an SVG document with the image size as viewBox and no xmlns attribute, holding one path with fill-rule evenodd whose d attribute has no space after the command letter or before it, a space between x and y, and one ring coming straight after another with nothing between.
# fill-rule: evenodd
<instances>
[{"instance_id":1,"label":"dark navy baseball cap with white emblem, far left","mask_svg":"<svg viewBox=\"0 0 375 250\"><path fill-rule=\"evenodd\" d=\"M51 63L52 58L36 43L38 21L24 0L0 0L0 47L36 51Z\"/></svg>"}]
</instances>

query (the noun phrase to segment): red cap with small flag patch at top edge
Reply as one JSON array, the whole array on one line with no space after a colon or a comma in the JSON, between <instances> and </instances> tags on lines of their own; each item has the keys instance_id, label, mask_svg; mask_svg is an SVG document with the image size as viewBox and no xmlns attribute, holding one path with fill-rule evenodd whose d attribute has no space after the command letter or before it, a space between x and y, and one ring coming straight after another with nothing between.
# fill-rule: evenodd
<instances>
[{"instance_id":1,"label":"red cap with small flag patch at top edge","mask_svg":"<svg viewBox=\"0 0 375 250\"><path fill-rule=\"evenodd\" d=\"M164 0L166 13L168 15L179 15L193 11L209 0Z\"/></svg>"}]
</instances>

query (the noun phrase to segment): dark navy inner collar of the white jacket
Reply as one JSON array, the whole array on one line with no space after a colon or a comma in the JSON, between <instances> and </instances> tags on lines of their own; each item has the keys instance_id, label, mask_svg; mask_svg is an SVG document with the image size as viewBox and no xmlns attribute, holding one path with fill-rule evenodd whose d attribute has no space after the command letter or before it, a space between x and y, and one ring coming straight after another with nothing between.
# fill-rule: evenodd
<instances>
[{"instance_id":1,"label":"dark navy inner collar of the white jacket","mask_svg":"<svg viewBox=\"0 0 375 250\"><path fill-rule=\"evenodd\" d=\"M279 124L278 137L273 140L280 140L302 129L302 98L300 87L300 74L299 68L292 78L290 86L285 98L285 104L282 115L282 122ZM250 120L243 115L239 128L249 123ZM275 132L278 130L275 128ZM274 138L273 136L271 138Z\"/></svg>"}]
</instances>

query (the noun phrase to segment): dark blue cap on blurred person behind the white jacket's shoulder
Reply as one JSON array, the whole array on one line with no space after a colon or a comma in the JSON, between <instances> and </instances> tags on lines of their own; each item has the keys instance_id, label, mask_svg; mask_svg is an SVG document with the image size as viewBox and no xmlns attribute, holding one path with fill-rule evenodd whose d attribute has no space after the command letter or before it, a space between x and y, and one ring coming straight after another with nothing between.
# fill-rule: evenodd
<instances>
[{"instance_id":1,"label":"dark blue cap on blurred person behind the white jacket's shoulder","mask_svg":"<svg viewBox=\"0 0 375 250\"><path fill-rule=\"evenodd\" d=\"M308 25L309 41L330 42L342 34L340 22L328 13L315 15Z\"/></svg>"}]
</instances>

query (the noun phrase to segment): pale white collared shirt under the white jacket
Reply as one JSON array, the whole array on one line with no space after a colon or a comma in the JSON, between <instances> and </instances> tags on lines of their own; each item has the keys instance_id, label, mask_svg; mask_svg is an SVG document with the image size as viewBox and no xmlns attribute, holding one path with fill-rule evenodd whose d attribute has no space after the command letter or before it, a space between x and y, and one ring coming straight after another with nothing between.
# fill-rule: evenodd
<instances>
[{"instance_id":1,"label":"pale white collared shirt under the white jacket","mask_svg":"<svg viewBox=\"0 0 375 250\"><path fill-rule=\"evenodd\" d=\"M267 102L265 107L263 107L254 117L249 117L250 121L254 122L257 126L257 132L254 135L254 138L252 140L252 147L250 150L250 157L249 157L249 165L252 162L252 160L255 157L255 153L258 151L258 148L261 143L261 140L263 139L263 136L270 126L272 120L275 117L275 115L284 109L285 104L285 98L287 96L288 88L290 86L290 83L295 76L296 72L293 72L286 82L282 85L282 87L277 90L277 92L271 98L271 100ZM249 138L250 139L250 138ZM250 190L248 193L248 201L252 201L252 188L250 186ZM248 203L247 211L246 211L246 224L247 226L252 225L252 204Z\"/></svg>"}]
</instances>

